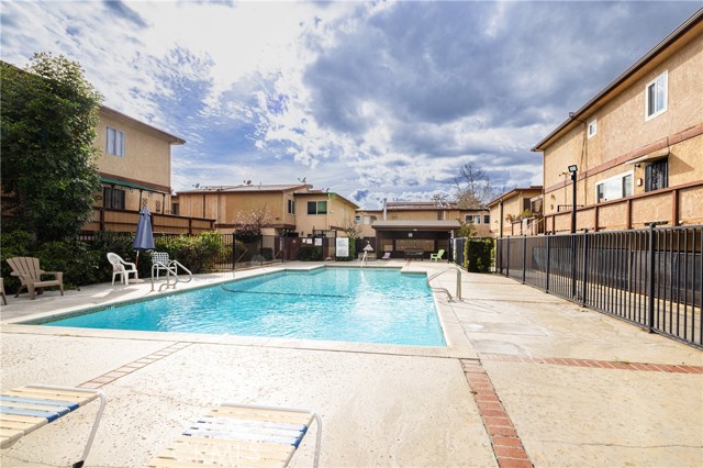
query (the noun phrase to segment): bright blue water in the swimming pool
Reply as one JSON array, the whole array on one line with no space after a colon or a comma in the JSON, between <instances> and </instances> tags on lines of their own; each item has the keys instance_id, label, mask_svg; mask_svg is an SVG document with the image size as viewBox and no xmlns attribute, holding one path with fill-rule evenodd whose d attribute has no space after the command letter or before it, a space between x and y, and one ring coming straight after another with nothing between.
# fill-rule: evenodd
<instances>
[{"instance_id":1,"label":"bright blue water in the swimming pool","mask_svg":"<svg viewBox=\"0 0 703 468\"><path fill-rule=\"evenodd\" d=\"M445 346L424 275L282 271L72 316L46 326Z\"/></svg>"}]
</instances>

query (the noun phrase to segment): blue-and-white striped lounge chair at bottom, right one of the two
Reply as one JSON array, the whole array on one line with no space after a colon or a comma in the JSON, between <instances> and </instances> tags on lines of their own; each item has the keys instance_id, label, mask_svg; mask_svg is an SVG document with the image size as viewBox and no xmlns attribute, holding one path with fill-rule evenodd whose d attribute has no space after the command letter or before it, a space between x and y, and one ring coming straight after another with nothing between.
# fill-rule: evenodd
<instances>
[{"instance_id":1,"label":"blue-and-white striped lounge chair at bottom, right one of the two","mask_svg":"<svg viewBox=\"0 0 703 468\"><path fill-rule=\"evenodd\" d=\"M317 422L313 466L320 458L322 423L311 411L222 403L191 424L149 467L286 467Z\"/></svg>"}]
</instances>

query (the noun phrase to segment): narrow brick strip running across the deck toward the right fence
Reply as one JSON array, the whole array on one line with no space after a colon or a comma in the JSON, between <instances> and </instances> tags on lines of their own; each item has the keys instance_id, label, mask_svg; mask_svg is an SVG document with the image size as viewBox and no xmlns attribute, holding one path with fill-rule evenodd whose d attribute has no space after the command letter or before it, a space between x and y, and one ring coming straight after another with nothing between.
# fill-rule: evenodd
<instances>
[{"instance_id":1,"label":"narrow brick strip running across the deck toward the right fence","mask_svg":"<svg viewBox=\"0 0 703 468\"><path fill-rule=\"evenodd\" d=\"M646 370L652 372L703 374L703 366L670 364L625 363L621 360L568 359L553 357L529 357L510 354L481 354L481 360L525 364L554 364L556 366L592 367L596 369Z\"/></svg>"}]
</instances>

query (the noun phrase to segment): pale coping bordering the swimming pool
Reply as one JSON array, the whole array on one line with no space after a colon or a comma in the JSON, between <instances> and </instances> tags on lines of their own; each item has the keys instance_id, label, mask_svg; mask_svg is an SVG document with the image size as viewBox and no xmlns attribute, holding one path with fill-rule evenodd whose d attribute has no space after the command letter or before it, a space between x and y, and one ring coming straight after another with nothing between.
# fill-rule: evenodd
<instances>
[{"instance_id":1,"label":"pale coping bordering the swimming pool","mask_svg":"<svg viewBox=\"0 0 703 468\"><path fill-rule=\"evenodd\" d=\"M391 266L366 266L367 268L386 268L386 269L400 269L403 274L425 274L431 275L433 272L432 265L427 265L424 268L415 268L417 264L411 265L406 263L404 265ZM201 289L211 287L213 285L231 282L233 279L244 279L258 277L264 275L270 275L280 271L310 271L323 267L332 268L360 268L357 265L349 264L313 264L313 265L294 265L286 266L267 266L265 268L248 269L244 271L236 271L238 275L236 278L223 275L221 277L207 279L199 281L194 285L183 283L182 289L177 291L147 291L146 296L155 294L174 294L181 293L192 289ZM141 289L146 290L150 287L150 281L145 281L138 285ZM178 333L178 332L142 332L142 331L129 331L129 330L99 330L99 328L78 328L78 327L64 327L52 326L43 327L35 324L27 324L31 321L41 321L56 315L70 314L78 311L97 311L105 308L118 307L125 303L140 302L148 300L148 297L144 294L130 299L108 299L101 301L100 299L92 301L86 300L85 303L79 305L72 305L63 309L56 309L48 312L40 312L22 317L8 319L0 322L3 333L20 333L20 334L35 334L35 335L54 335L54 336L78 336L78 337L100 337L100 338L115 338L115 339L140 339L140 341L157 341L157 342L182 342L193 344L223 344L223 345L237 345L237 346L258 346L258 347L278 347L278 348L297 348L297 349L313 349L313 350L336 350L347 353L366 353L366 354L390 354L402 356L423 356L423 357L447 357L447 358L464 358L464 359L478 359L473 347L471 346L466 333L459 320L451 308L451 303L444 294L438 294L433 291L433 301L437 311L437 316L443 330L446 347L434 346L414 346L414 345L389 345L389 344L375 344L375 343L353 343L353 342L330 342L319 339L299 339L299 338L277 338L277 337L256 337L256 336L243 336L243 335L208 335L197 333ZM90 302L90 303L88 303ZM98 303L96 303L98 302Z\"/></svg>"}]
</instances>

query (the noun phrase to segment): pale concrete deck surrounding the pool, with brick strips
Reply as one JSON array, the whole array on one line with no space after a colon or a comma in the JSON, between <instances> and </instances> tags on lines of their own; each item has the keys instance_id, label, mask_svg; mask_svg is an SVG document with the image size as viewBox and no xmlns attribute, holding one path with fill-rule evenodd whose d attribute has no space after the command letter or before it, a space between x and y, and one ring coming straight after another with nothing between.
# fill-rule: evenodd
<instances>
[{"instance_id":1,"label":"pale concrete deck surrounding the pool, with brick strips","mask_svg":"<svg viewBox=\"0 0 703 468\"><path fill-rule=\"evenodd\" d=\"M336 264L350 265L358 264ZM201 275L178 289L257 271ZM148 281L10 297L0 309L0 386L103 390L108 405L87 466L144 466L222 401L316 411L322 467L703 464L701 350L511 279L461 278L462 301L436 294L447 349L12 323L155 294ZM447 272L433 285L454 293L455 279ZM0 465L69 466L96 410L24 437L0 453ZM305 438L291 466L310 466L313 442Z\"/></svg>"}]
</instances>

